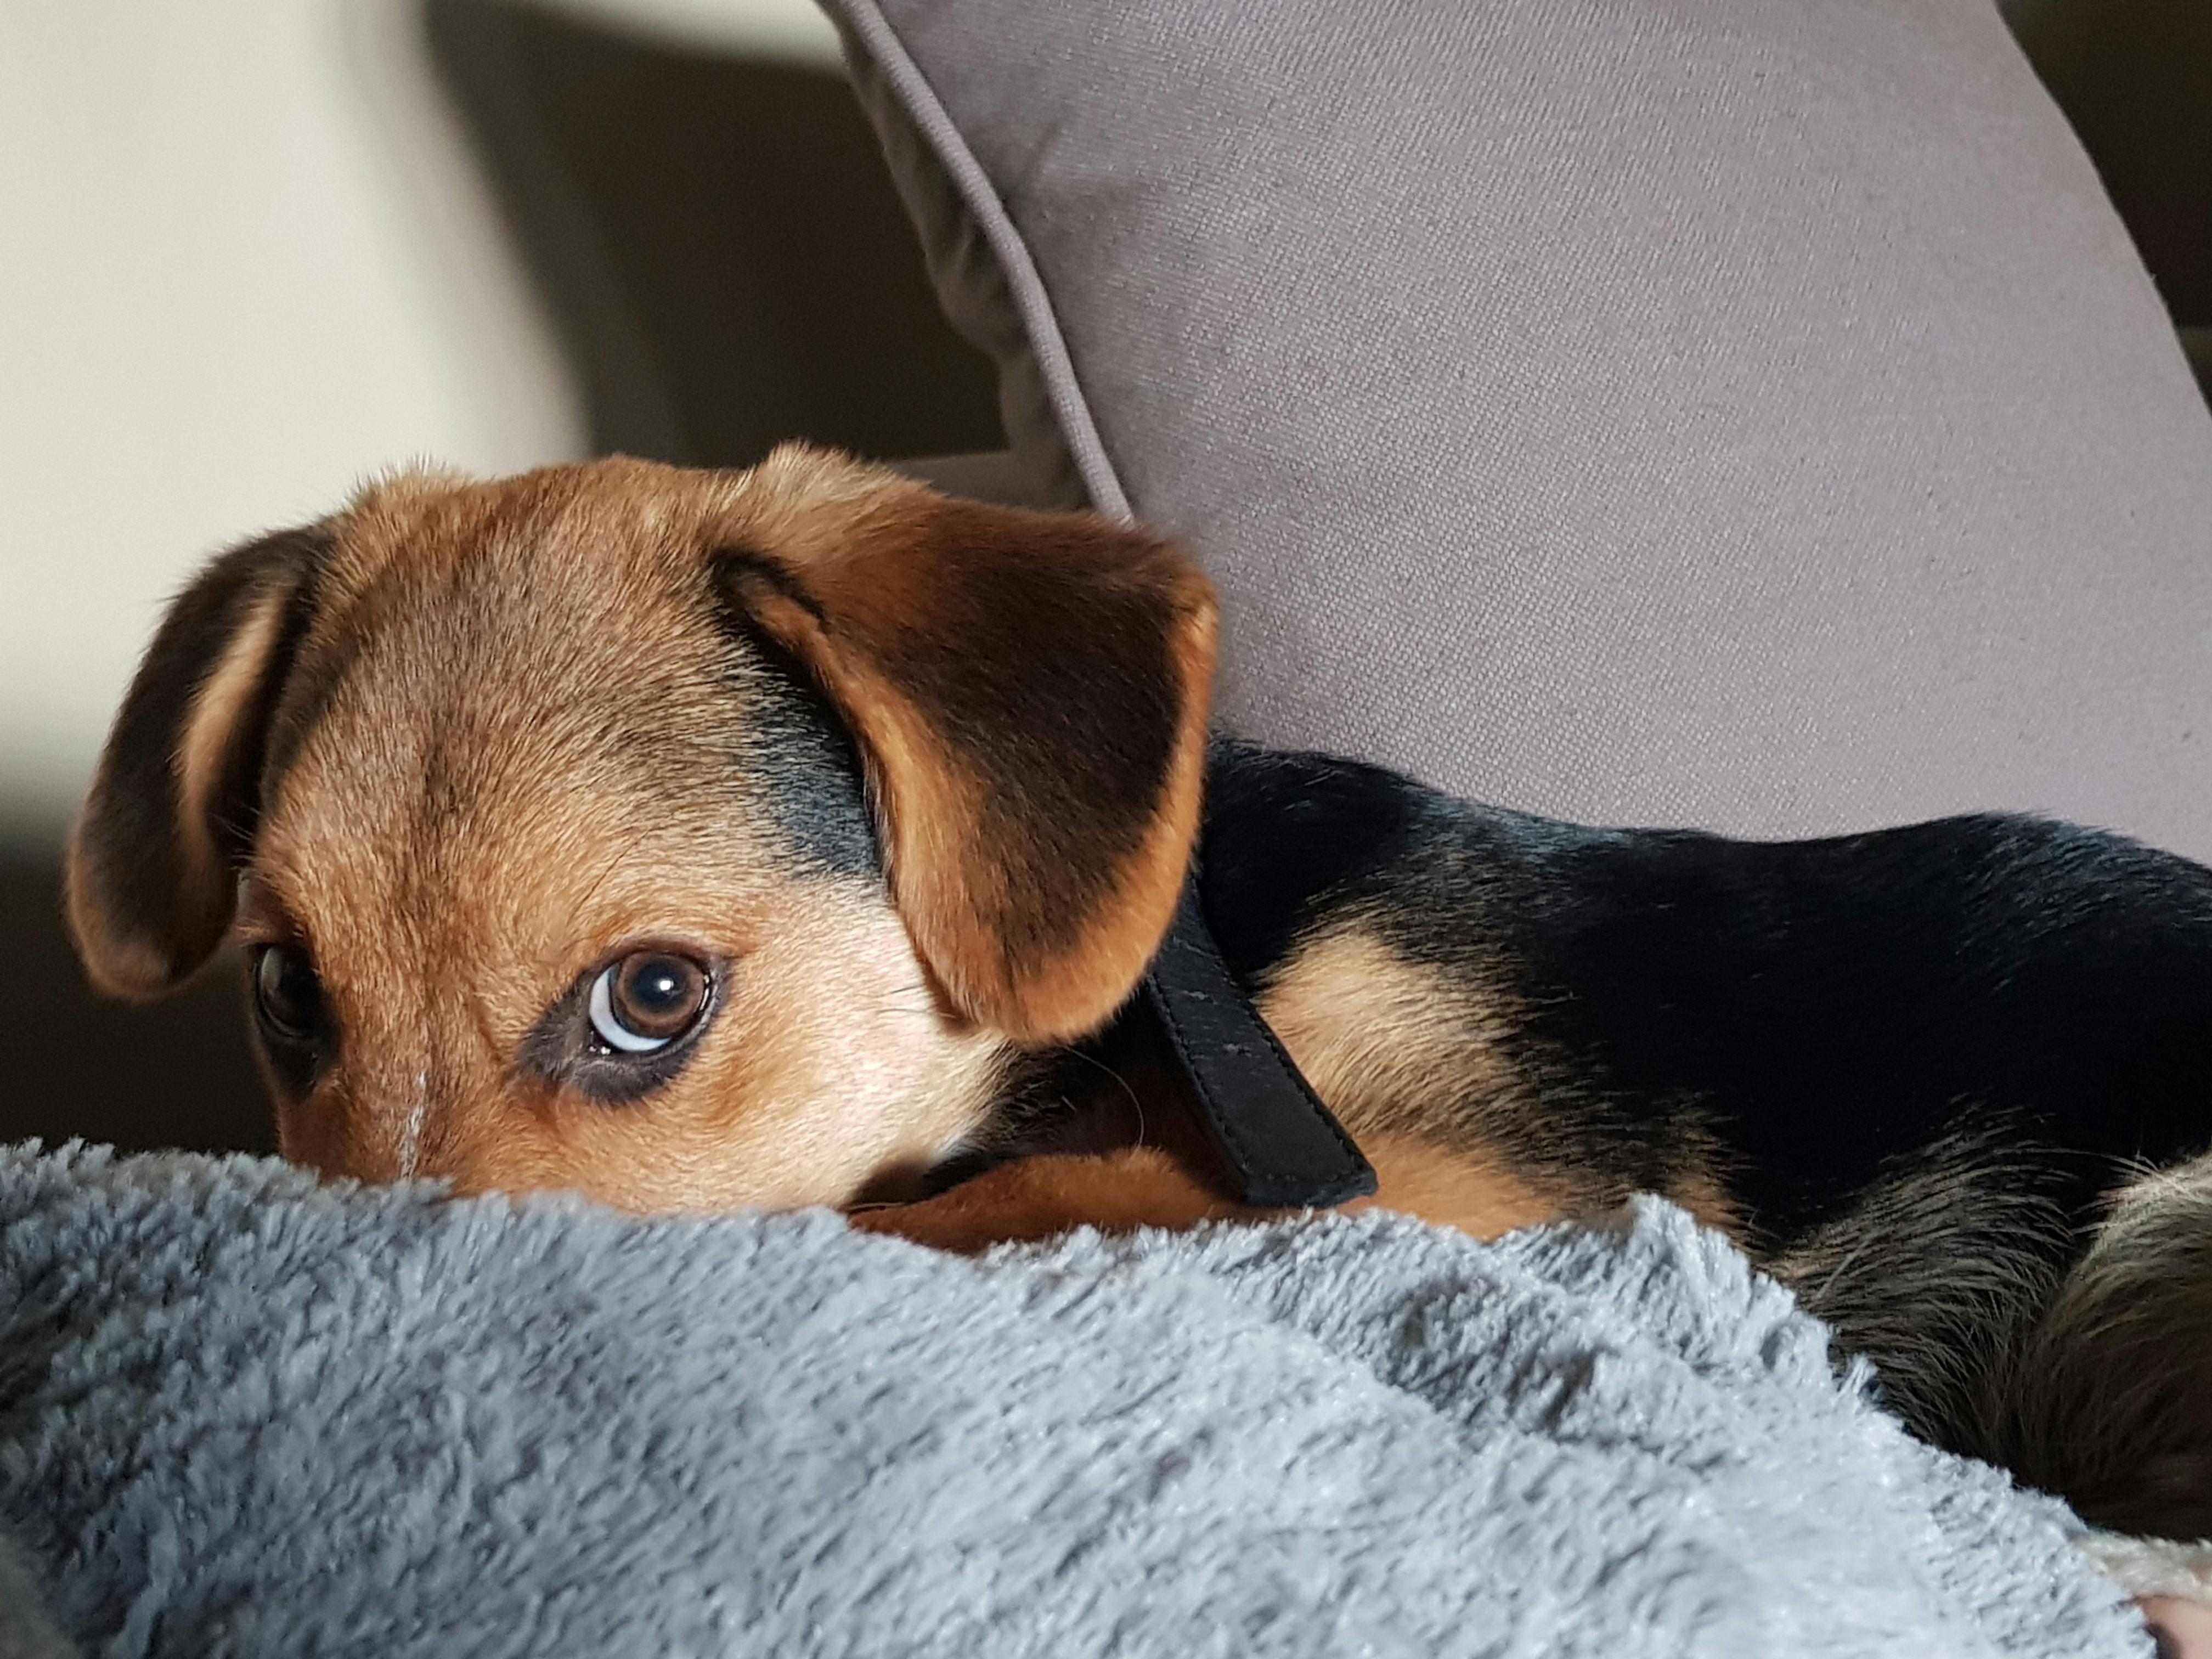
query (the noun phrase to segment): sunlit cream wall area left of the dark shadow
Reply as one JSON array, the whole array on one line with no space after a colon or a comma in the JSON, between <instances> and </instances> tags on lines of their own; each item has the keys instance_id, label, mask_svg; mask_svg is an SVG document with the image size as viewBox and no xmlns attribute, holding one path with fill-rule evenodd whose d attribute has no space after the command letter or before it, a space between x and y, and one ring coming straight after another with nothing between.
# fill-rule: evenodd
<instances>
[{"instance_id":1,"label":"sunlit cream wall area left of the dark shadow","mask_svg":"<svg viewBox=\"0 0 2212 1659\"><path fill-rule=\"evenodd\" d=\"M69 812L201 553L411 456L584 449L400 7L9 0L0 226L0 810L24 830Z\"/></svg>"}]
</instances>

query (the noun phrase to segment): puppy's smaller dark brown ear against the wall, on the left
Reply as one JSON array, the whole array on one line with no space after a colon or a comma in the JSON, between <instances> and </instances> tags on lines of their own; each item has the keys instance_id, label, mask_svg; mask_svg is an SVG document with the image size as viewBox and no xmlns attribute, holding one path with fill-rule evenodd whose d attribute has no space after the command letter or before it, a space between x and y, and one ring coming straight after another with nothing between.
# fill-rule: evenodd
<instances>
[{"instance_id":1,"label":"puppy's smaller dark brown ear against the wall, on the left","mask_svg":"<svg viewBox=\"0 0 2212 1659\"><path fill-rule=\"evenodd\" d=\"M270 717L327 546L307 526L219 555L139 661L69 838L69 929L108 995L161 995L230 927Z\"/></svg>"}]
</instances>

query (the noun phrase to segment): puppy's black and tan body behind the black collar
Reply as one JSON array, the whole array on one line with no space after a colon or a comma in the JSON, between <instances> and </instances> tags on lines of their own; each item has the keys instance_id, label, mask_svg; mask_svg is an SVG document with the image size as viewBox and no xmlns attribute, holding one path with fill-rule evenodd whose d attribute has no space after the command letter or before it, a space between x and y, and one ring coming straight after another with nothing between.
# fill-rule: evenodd
<instances>
[{"instance_id":1,"label":"puppy's black and tan body behind the black collar","mask_svg":"<svg viewBox=\"0 0 2212 1659\"><path fill-rule=\"evenodd\" d=\"M2130 1188L2212 1139L2212 872L2033 818L1579 830L1241 745L1217 745L1199 869L1383 1201L1436 1155L1440 1201L1400 1208L1482 1234L1663 1192L1931 1438L2212 1531L2212 1460L2181 1451L2212 1449L2212 1168ZM2177 1449L2157 1502L2097 1462L2130 1411Z\"/></svg>"}]
</instances>

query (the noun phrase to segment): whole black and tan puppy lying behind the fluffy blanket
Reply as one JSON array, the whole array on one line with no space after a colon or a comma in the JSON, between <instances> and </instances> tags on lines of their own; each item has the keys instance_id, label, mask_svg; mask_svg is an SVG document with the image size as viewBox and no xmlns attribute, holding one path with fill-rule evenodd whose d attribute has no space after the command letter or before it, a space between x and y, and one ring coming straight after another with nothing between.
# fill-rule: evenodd
<instances>
[{"instance_id":1,"label":"whole black and tan puppy lying behind the fluffy blanket","mask_svg":"<svg viewBox=\"0 0 2212 1659\"><path fill-rule=\"evenodd\" d=\"M2212 1533L2212 874L2028 818L1577 830L1208 748L1212 628L1155 535L805 449L403 476L177 599L71 918L122 995L248 947L319 1170L975 1245L1232 1212L1121 1018L1197 849L1378 1203L1495 1234L1666 1192L1920 1431Z\"/></svg>"}]
</instances>

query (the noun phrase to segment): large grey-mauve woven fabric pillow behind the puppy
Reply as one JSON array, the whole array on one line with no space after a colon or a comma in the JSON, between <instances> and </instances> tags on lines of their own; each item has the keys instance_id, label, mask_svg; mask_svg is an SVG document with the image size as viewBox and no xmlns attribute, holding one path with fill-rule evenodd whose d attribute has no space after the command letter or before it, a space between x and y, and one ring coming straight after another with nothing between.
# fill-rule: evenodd
<instances>
[{"instance_id":1,"label":"large grey-mauve woven fabric pillow behind the puppy","mask_svg":"<svg viewBox=\"0 0 2212 1659\"><path fill-rule=\"evenodd\" d=\"M827 0L1223 714L1601 823L2212 856L2212 416L1991 0Z\"/></svg>"}]
</instances>

